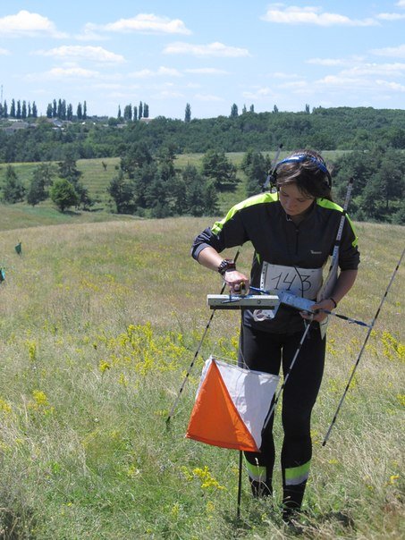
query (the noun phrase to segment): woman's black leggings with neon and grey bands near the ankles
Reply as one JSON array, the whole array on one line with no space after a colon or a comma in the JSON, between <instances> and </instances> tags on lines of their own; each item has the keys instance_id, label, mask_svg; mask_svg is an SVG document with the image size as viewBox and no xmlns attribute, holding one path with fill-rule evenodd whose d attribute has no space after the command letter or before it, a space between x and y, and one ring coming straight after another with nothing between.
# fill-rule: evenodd
<instances>
[{"instance_id":1,"label":"woman's black leggings with neon and grey bands near the ankles","mask_svg":"<svg viewBox=\"0 0 405 540\"><path fill-rule=\"evenodd\" d=\"M240 332L240 366L278 375L283 362L283 374L287 373L305 328L300 333L267 333L243 326ZM299 508L308 477L312 456L310 436L311 411L322 381L325 363L325 338L314 323L300 348L300 354L291 369L283 389L283 489L284 504ZM274 415L264 431L260 452L245 452L246 460L260 468L266 468L266 493L272 493L274 468ZM287 471L287 472L286 472ZM286 478L287 475L287 478ZM292 475L292 479L291 479ZM252 489L255 493L255 483ZM256 485L257 487L257 485ZM263 492L263 489L261 490Z\"/></svg>"}]
</instances>

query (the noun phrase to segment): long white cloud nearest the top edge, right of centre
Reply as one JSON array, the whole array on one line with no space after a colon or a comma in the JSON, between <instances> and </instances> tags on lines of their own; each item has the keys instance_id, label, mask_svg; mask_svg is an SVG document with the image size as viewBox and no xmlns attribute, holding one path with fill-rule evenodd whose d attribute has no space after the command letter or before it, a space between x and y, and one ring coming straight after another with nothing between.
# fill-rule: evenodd
<instances>
[{"instance_id":1,"label":"long white cloud nearest the top edge, right of centre","mask_svg":"<svg viewBox=\"0 0 405 540\"><path fill-rule=\"evenodd\" d=\"M312 6L284 7L283 4L270 5L261 18L264 21L279 24L315 24L316 26L375 26L378 24L373 19L358 21L339 13L321 13L320 8Z\"/></svg>"}]
</instances>

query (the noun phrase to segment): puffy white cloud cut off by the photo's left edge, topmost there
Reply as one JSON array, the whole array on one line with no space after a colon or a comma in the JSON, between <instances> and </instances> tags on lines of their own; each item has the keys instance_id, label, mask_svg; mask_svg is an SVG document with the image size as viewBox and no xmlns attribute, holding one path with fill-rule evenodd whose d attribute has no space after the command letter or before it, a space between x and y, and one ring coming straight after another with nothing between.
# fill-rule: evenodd
<instances>
[{"instance_id":1,"label":"puffy white cloud cut off by the photo's left edge, topmost there","mask_svg":"<svg viewBox=\"0 0 405 540\"><path fill-rule=\"evenodd\" d=\"M0 19L0 34L10 36L38 36L48 34L53 38L66 38L66 34L59 32L55 24L39 13L30 13L21 10L16 15L6 15Z\"/></svg>"}]
</instances>

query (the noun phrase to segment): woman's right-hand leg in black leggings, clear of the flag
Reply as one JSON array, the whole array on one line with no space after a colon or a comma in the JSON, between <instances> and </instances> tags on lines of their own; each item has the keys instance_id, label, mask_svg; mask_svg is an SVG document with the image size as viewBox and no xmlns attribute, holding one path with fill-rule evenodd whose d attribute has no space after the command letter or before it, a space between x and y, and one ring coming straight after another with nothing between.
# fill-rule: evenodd
<instances>
[{"instance_id":1,"label":"woman's right-hand leg in black leggings, clear of the flag","mask_svg":"<svg viewBox=\"0 0 405 540\"><path fill-rule=\"evenodd\" d=\"M302 333L293 334L283 346L284 376L291 365ZM311 412L322 381L325 339L317 325L310 329L283 390L282 450L284 518L300 509L312 457Z\"/></svg>"}]
</instances>

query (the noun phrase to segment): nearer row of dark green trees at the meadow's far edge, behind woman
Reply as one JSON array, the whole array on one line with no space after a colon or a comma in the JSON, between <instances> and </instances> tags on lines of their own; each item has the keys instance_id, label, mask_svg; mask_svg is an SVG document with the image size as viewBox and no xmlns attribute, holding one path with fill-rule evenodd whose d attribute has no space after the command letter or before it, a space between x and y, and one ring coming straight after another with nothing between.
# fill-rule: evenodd
<instances>
[{"instance_id":1,"label":"nearer row of dark green trees at the meadow's far edge, behind woman","mask_svg":"<svg viewBox=\"0 0 405 540\"><path fill-rule=\"evenodd\" d=\"M333 198L344 199L347 182L354 178L350 215L359 221L405 224L405 155L401 150L377 145L354 151L328 164L333 177ZM224 152L207 150L200 165L175 167L173 147L152 153L143 141L134 142L117 166L106 190L112 211L142 217L217 215L221 193L232 192L243 183L246 197L265 189L272 168L270 155L249 148L238 168ZM89 210L96 201L80 179L73 156L57 165L41 163L25 187L7 165L0 194L4 203L26 201L35 206L50 198L62 212L69 207Z\"/></svg>"}]
</instances>

